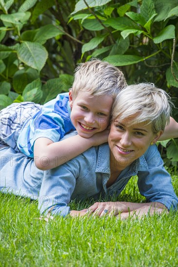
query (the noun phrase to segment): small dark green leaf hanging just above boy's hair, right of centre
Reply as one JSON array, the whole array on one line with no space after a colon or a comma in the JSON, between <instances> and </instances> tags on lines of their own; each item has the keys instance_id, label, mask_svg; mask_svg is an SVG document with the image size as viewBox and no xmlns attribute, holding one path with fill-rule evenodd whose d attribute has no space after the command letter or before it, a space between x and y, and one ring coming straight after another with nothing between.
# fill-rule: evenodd
<instances>
[{"instance_id":1,"label":"small dark green leaf hanging just above boy's hair, right of centre","mask_svg":"<svg viewBox=\"0 0 178 267\"><path fill-rule=\"evenodd\" d=\"M125 51L128 50L129 44L129 38L126 37L125 40L123 37L118 38L116 44L110 46L112 49L110 50L109 55L123 55Z\"/></svg>"}]
</instances>

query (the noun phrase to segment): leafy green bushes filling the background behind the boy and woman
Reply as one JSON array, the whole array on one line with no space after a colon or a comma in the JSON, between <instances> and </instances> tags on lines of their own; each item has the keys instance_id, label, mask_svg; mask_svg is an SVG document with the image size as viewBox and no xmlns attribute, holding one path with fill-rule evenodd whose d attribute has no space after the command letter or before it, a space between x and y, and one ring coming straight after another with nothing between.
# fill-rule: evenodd
<instances>
[{"instance_id":1,"label":"leafy green bushes filling the background behind the boy and woman","mask_svg":"<svg viewBox=\"0 0 178 267\"><path fill-rule=\"evenodd\" d=\"M0 0L0 107L53 99L91 57L121 67L128 84L153 82L177 99L177 11L177 0Z\"/></svg>"}]
</instances>

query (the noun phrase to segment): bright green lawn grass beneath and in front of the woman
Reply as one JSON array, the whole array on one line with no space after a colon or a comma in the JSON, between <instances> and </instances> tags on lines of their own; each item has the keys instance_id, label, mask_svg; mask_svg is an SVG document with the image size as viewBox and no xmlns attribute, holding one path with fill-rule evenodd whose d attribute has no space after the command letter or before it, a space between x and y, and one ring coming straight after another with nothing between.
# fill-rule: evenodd
<instances>
[{"instance_id":1,"label":"bright green lawn grass beneath and in front of the woman","mask_svg":"<svg viewBox=\"0 0 178 267\"><path fill-rule=\"evenodd\" d=\"M172 173L178 195L178 174ZM122 201L144 201L133 177ZM71 202L82 209L93 200ZM178 212L142 219L55 217L37 202L0 194L0 267L177 267Z\"/></svg>"}]
</instances>

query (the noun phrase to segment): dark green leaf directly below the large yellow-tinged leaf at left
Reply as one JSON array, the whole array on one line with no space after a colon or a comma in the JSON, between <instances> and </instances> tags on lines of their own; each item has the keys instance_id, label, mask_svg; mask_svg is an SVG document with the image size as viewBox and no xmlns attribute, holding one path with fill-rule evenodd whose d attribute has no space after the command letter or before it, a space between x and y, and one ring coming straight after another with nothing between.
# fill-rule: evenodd
<instances>
[{"instance_id":1,"label":"dark green leaf directly below the large yellow-tinged leaf at left","mask_svg":"<svg viewBox=\"0 0 178 267\"><path fill-rule=\"evenodd\" d=\"M23 92L25 86L28 83L39 78L39 74L36 69L28 67L18 70L13 77L14 90L20 94Z\"/></svg>"}]
</instances>

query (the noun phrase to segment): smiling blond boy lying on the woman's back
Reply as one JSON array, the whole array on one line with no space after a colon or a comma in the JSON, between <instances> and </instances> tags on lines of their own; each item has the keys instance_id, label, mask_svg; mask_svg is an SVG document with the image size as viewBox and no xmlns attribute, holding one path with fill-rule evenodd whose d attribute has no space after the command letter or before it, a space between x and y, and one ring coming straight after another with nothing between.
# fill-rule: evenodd
<instances>
[{"instance_id":1,"label":"smiling blond boy lying on the woman's back","mask_svg":"<svg viewBox=\"0 0 178 267\"><path fill-rule=\"evenodd\" d=\"M124 74L117 67L98 59L83 63L76 68L69 94L59 94L43 106L25 102L2 110L0 143L34 157L39 169L60 166L107 142L112 103L125 86ZM60 141L75 129L78 135Z\"/></svg>"}]
</instances>

